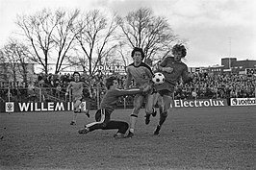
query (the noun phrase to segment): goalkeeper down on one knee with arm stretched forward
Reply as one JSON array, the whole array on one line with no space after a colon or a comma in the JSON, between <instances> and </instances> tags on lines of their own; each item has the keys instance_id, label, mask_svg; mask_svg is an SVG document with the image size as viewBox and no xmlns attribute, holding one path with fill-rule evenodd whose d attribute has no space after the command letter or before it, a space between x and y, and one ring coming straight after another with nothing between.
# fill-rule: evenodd
<instances>
[{"instance_id":1,"label":"goalkeeper down on one knee with arm stretched forward","mask_svg":"<svg viewBox=\"0 0 256 170\"><path fill-rule=\"evenodd\" d=\"M117 129L117 133L114 135L115 138L124 138L125 133L129 128L129 124L124 121L111 120L111 114L115 109L118 97L133 95L141 93L143 89L118 89L118 81L115 77L110 77L106 79L107 92L104 95L101 103L100 109L95 113L96 122L92 122L85 126L84 129L79 130L79 134L88 134L94 130L114 130Z\"/></svg>"}]
</instances>

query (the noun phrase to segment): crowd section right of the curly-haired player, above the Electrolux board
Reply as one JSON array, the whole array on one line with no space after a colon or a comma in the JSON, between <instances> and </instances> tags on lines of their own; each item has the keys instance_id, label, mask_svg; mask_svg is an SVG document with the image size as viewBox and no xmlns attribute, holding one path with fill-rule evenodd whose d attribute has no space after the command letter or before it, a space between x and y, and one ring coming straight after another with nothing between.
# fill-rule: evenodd
<instances>
[{"instance_id":1,"label":"crowd section right of the curly-haired player, above the Electrolux board","mask_svg":"<svg viewBox=\"0 0 256 170\"><path fill-rule=\"evenodd\" d=\"M246 98L255 97L256 78L246 75L214 75L198 73L190 84L176 85L174 97Z\"/></svg>"}]
</instances>

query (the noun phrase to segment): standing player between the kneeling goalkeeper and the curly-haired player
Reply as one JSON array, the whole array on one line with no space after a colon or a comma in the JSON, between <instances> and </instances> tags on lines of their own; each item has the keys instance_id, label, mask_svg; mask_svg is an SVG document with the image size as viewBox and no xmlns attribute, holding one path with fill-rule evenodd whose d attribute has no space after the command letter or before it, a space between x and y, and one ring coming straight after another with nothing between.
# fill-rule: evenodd
<instances>
[{"instance_id":1,"label":"standing player between the kneeling goalkeeper and the curly-haired player","mask_svg":"<svg viewBox=\"0 0 256 170\"><path fill-rule=\"evenodd\" d=\"M145 124L149 124L150 115L156 115L156 110L153 109L154 95L151 89L151 80L153 72L151 68L142 60L144 59L144 53L141 48L135 47L132 51L133 63L127 66L127 78L125 88L131 85L132 79L137 87L143 87L148 90L147 94L137 94L134 98L134 109L130 116L130 130L128 137L134 136L135 124L137 122L138 114L141 109L143 102L145 102Z\"/></svg>"}]
</instances>

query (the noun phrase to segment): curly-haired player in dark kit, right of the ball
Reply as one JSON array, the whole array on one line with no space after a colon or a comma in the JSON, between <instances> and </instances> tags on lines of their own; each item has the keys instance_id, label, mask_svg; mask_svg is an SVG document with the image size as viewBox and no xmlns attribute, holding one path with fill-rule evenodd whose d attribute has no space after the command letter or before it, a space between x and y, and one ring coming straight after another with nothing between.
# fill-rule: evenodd
<instances>
[{"instance_id":1,"label":"curly-haired player in dark kit, right of the ball","mask_svg":"<svg viewBox=\"0 0 256 170\"><path fill-rule=\"evenodd\" d=\"M176 83L182 78L184 83L192 81L192 74L188 72L188 66L181 61L187 55L187 50L184 45L176 44L172 48L173 57L166 57L159 64L159 71L161 71L166 79L165 83L161 85L155 85L161 98L160 105L160 120L156 127L154 134L159 134L162 125L166 121L167 111L170 109L170 103L172 100L172 93Z\"/></svg>"}]
</instances>

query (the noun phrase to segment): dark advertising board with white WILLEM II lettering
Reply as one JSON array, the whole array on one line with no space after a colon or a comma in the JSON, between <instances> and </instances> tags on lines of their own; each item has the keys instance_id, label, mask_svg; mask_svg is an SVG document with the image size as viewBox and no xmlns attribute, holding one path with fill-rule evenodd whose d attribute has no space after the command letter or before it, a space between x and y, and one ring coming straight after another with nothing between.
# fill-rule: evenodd
<instances>
[{"instance_id":1,"label":"dark advertising board with white WILLEM II lettering","mask_svg":"<svg viewBox=\"0 0 256 170\"><path fill-rule=\"evenodd\" d=\"M81 109L90 109L90 102L82 102ZM73 102L42 102L42 103L5 103L5 112L31 112L31 111L70 111L74 109ZM82 110L82 111L83 111Z\"/></svg>"}]
</instances>

